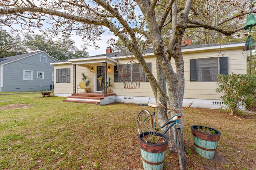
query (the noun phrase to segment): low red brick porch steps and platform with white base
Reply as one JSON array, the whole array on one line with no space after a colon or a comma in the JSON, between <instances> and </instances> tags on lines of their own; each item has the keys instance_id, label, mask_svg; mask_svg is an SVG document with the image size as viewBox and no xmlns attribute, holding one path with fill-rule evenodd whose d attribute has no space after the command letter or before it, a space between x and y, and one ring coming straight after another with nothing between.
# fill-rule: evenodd
<instances>
[{"instance_id":1,"label":"low red brick porch steps and platform with white base","mask_svg":"<svg viewBox=\"0 0 256 170\"><path fill-rule=\"evenodd\" d=\"M116 94L101 93L74 93L68 96L63 102L87 103L87 104L110 104L116 101Z\"/></svg>"}]
</instances>

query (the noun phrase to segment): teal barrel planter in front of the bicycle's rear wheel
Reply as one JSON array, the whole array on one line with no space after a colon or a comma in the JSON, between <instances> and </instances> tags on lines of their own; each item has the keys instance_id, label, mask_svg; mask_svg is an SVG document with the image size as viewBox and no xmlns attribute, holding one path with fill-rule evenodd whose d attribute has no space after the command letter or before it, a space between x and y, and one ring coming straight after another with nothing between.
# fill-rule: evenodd
<instances>
[{"instance_id":1,"label":"teal barrel planter in front of the bicycle's rear wheel","mask_svg":"<svg viewBox=\"0 0 256 170\"><path fill-rule=\"evenodd\" d=\"M146 143L141 137L153 133L165 139L164 143L152 144ZM138 135L141 158L144 170L162 170L164 167L164 155L168 147L168 138L158 132L142 132Z\"/></svg>"}]
</instances>

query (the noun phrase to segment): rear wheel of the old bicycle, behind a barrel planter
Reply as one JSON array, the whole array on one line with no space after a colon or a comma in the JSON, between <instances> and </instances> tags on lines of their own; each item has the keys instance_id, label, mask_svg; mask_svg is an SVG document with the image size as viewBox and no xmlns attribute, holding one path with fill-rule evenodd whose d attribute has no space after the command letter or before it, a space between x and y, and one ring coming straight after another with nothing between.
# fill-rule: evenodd
<instances>
[{"instance_id":1,"label":"rear wheel of the old bicycle, behind a barrel planter","mask_svg":"<svg viewBox=\"0 0 256 170\"><path fill-rule=\"evenodd\" d=\"M142 122L145 125L143 125ZM137 128L138 128L139 134L142 132L151 131L150 128L147 126L153 128L153 119L152 119L152 116L150 116L149 111L142 110L140 111L137 118Z\"/></svg>"}]
</instances>

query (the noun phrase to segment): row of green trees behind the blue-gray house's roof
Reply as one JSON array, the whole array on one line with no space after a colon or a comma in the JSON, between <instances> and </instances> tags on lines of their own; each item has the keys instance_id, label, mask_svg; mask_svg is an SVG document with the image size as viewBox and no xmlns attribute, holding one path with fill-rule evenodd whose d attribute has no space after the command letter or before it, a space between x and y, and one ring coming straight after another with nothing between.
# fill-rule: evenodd
<instances>
[{"instance_id":1,"label":"row of green trees behind the blue-gray house's roof","mask_svg":"<svg viewBox=\"0 0 256 170\"><path fill-rule=\"evenodd\" d=\"M78 49L71 39L53 41L44 35L36 34L25 34L21 38L19 34L8 33L0 29L0 58L33 51L45 51L48 55L63 61L88 57L86 50L85 46L82 46L82 50Z\"/></svg>"}]
</instances>

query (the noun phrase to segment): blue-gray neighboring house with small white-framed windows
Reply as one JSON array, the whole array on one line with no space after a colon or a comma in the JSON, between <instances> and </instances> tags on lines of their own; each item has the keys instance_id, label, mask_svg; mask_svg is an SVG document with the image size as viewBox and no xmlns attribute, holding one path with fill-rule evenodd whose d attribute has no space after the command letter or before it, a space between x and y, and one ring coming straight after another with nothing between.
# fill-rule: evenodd
<instances>
[{"instance_id":1,"label":"blue-gray neighboring house with small white-framed windows","mask_svg":"<svg viewBox=\"0 0 256 170\"><path fill-rule=\"evenodd\" d=\"M0 92L53 90L58 61L44 51L0 58Z\"/></svg>"}]
</instances>

